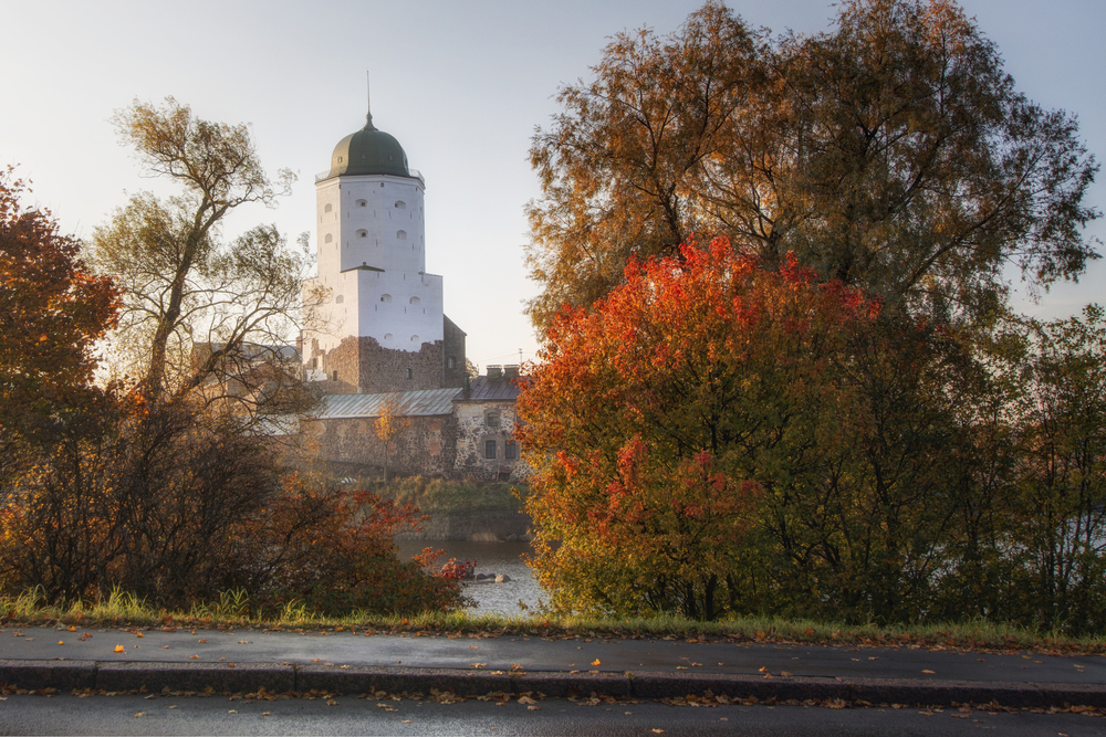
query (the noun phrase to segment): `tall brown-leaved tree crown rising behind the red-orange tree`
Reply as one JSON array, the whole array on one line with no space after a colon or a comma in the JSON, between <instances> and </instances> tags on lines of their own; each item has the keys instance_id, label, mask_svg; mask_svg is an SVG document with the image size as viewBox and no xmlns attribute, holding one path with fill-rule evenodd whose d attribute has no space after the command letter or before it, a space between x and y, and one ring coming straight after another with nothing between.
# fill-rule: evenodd
<instances>
[{"instance_id":1,"label":"tall brown-leaved tree crown rising behind the red-orange tree","mask_svg":"<svg viewBox=\"0 0 1106 737\"><path fill-rule=\"evenodd\" d=\"M1046 286L1097 257L1075 119L1019 93L952 0L851 0L778 39L711 2L615 36L593 72L531 148L540 326L689 233L939 319L1001 304L1008 265Z\"/></svg>"}]
</instances>

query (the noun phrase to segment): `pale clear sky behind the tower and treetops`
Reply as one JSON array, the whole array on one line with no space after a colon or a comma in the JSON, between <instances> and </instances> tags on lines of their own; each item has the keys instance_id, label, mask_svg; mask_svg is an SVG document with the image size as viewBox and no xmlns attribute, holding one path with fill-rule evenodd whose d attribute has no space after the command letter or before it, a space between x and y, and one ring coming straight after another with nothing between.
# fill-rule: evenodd
<instances>
[{"instance_id":1,"label":"pale clear sky behind the tower and treetops","mask_svg":"<svg viewBox=\"0 0 1106 737\"><path fill-rule=\"evenodd\" d=\"M729 0L753 27L827 30L827 0ZM140 190L143 178L111 124L134 99L168 95L196 116L249 123L270 172L299 173L274 210L243 208L233 236L265 222L290 241L315 222L314 175L340 139L373 120L426 178L427 271L441 274L446 314L468 334L468 356L530 360L538 348L523 303L539 292L523 262L523 208L540 197L528 150L557 112L557 88L589 80L609 36L675 31L700 0L0 0L0 166L19 165L32 201L62 230L90 238ZM1106 158L1100 0L961 0L998 44L1020 91L1075 114L1087 147ZM1089 203L1106 209L1106 175ZM1106 240L1097 221L1091 234ZM312 243L314 233L312 232ZM1099 246L1102 251L1103 248ZM1016 275L1014 275L1016 276ZM1015 305L1042 318L1106 301L1106 265L1078 285Z\"/></svg>"}]
</instances>

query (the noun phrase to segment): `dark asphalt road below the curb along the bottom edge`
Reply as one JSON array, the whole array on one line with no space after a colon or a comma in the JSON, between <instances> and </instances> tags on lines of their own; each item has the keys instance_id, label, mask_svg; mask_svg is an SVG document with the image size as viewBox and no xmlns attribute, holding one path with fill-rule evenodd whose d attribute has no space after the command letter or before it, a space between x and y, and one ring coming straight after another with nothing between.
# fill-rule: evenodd
<instances>
[{"instance_id":1,"label":"dark asphalt road below the curb along the bottom edge","mask_svg":"<svg viewBox=\"0 0 1106 737\"><path fill-rule=\"evenodd\" d=\"M536 706L538 708L531 708ZM658 731L662 730L662 731ZM0 735L1041 735L1106 734L1077 714L802 706L695 708L655 702L586 706L366 701L352 696L275 702L226 696L8 696Z\"/></svg>"}]
</instances>

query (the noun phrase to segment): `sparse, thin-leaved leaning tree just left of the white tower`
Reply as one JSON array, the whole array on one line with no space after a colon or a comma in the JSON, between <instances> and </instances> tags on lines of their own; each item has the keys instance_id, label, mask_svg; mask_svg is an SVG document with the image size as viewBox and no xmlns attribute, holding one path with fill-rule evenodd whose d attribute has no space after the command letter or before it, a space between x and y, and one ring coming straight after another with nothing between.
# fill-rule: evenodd
<instances>
[{"instance_id":1,"label":"sparse, thin-leaved leaning tree just left of the white tower","mask_svg":"<svg viewBox=\"0 0 1106 737\"><path fill-rule=\"evenodd\" d=\"M286 347L307 250L271 225L228 243L222 224L242 206L274 206L294 175L271 180L247 126L197 118L171 97L135 102L114 122L148 175L181 188L169 199L136 194L95 231L96 266L124 287L118 357L155 402L192 394L248 417L290 413L305 399Z\"/></svg>"}]
</instances>

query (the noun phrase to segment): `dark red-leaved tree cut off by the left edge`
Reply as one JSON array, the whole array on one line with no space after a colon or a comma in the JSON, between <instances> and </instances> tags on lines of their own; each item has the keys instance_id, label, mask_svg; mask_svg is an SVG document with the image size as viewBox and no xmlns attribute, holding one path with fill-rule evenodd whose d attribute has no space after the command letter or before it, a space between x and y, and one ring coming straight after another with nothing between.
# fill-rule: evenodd
<instances>
[{"instance_id":1,"label":"dark red-leaved tree cut off by the left edge","mask_svg":"<svg viewBox=\"0 0 1106 737\"><path fill-rule=\"evenodd\" d=\"M118 289L95 276L48 210L24 207L22 180L0 171L0 470L18 442L52 442L104 400L94 345L115 325Z\"/></svg>"}]
</instances>

